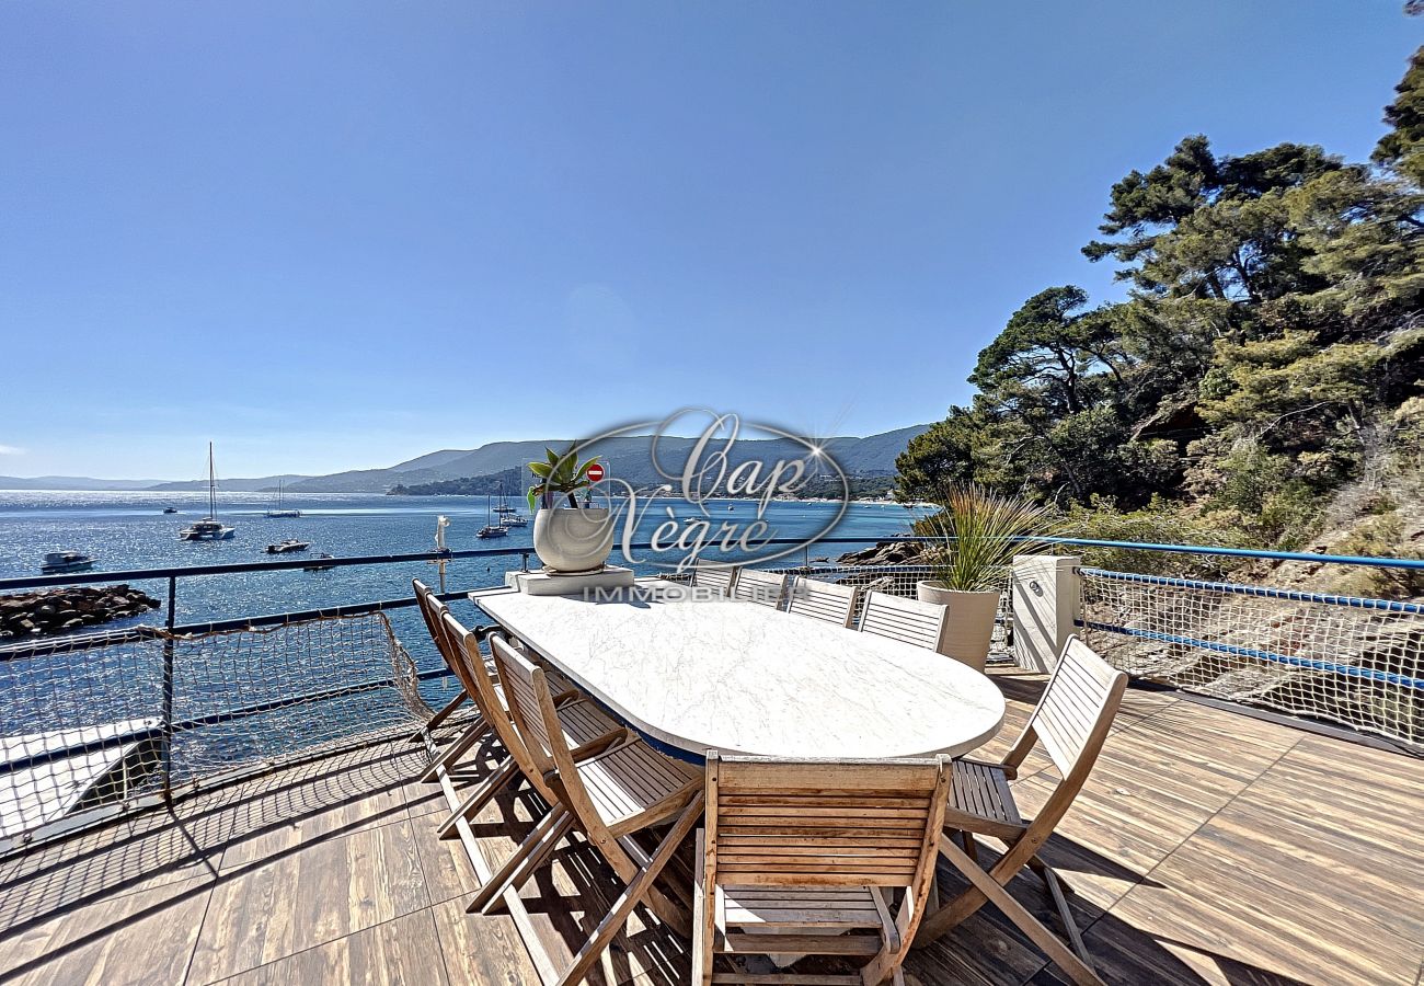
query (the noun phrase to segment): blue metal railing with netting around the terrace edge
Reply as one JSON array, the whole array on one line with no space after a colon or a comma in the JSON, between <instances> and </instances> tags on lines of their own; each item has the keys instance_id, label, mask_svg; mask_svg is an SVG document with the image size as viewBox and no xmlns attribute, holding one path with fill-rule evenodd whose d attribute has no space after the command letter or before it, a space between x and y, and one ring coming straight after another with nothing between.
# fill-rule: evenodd
<instances>
[{"instance_id":1,"label":"blue metal railing with netting around the terrace edge","mask_svg":"<svg viewBox=\"0 0 1424 986\"><path fill-rule=\"evenodd\" d=\"M854 578L867 584L913 596L914 583L930 574L920 564L863 564L813 561L815 550L830 546L869 546L903 541L941 541L943 539L893 536L883 539L824 537L807 546L802 564L787 559L775 563L780 571L810 574L829 580ZM1172 554L1215 556L1225 559L1260 559L1273 561L1331 563L1358 567L1390 567L1424 570L1424 560L1378 559L1354 556L1330 556L1290 551L1266 551L1249 549L1226 549L1188 544L1142 544L1095 539L1025 539L1048 543L1055 549L1112 549L1126 551L1161 551ZM799 544L799 539L773 539L770 544ZM651 550L651 544L631 546L634 550ZM404 554L380 554L360 557L322 559L323 567L343 569L355 566L400 566L412 563L453 563L459 560L506 559L513 567L528 569L533 550L530 547L493 547L461 551L416 551ZM0 738L6 738L6 758L0 762L0 815L6 812L4 784L16 778L53 774L66 761L88 754L110 754L124 751L132 755L132 762L120 757L115 764L122 768L122 781L112 784L91 784L77 805L95 809L87 818L111 816L115 811L127 811L154 798L167 799L179 788L195 789L198 784L211 785L215 778L241 769L263 769L293 757L308 755L323 742L350 741L359 735L389 735L397 728L410 728L420 721L422 704L426 700L439 701L451 692L450 671L439 661L413 660L403 647L400 634L392 627L387 613L399 614L413 607L409 594L394 598L375 598L356 603L339 603L316 608L278 613L224 616L215 618L178 621L181 587L185 580L209 576L242 576L252 573L273 573L299 570L312 566L309 559L272 560L235 564L205 564L184 567L134 569L122 571L88 571L58 576L24 576L0 578L0 593L17 590L53 588L75 584L164 580L165 611L161 627L131 626L121 630L78 633L60 637L44 637L0 645ZM441 566L443 573L443 566ZM1180 597L1169 593L1203 593L1220 596L1227 583L1206 583L1173 580L1131 573L1111 573L1085 569L1085 584L1134 586L1141 590L1134 597L1136 616L1124 618L1122 600L1119 611L1105 617L1101 610L1106 594L1088 598L1089 613L1085 627L1099 634L1116 634L1134 641L1135 650L1121 658L1121 664L1143 677L1163 680L1178 687L1202 690L1208 694L1223 694L1220 680L1233 668L1216 674L1208 684L1180 671L1163 673L1161 663L1142 663L1145 644L1156 645L1159 651L1180 655L1183 650L1222 654L1236 661L1289 665L1296 671L1314 675L1334 675L1347 680L1370 680L1420 694L1418 661L1411 651L1397 667L1374 668L1367 661L1330 661L1300 657L1299 640L1282 645L1253 647L1250 634L1260 634L1260 627L1270 617L1256 614L1257 624L1237 618L1223 630L1220 618L1212 624L1200 607L1195 610L1203 623L1182 631L1173 624L1166 630L1153 628L1151 620L1162 618L1163 613L1193 613L1183 608ZM470 586L478 588L483 586ZM1236 591L1240 590L1240 591ZM463 600L467 590L441 593L446 601ZM1095 590L1098 591L1098 590ZM1145 594L1143 594L1145 593ZM1152 594L1155 593L1155 596ZM1386 600L1361 600L1357 597L1317 598L1316 594L1302 594L1294 590L1269 587L1235 586L1233 597L1267 600L1273 604L1300 603L1320 606L1344 600L1344 608L1391 614L1394 617L1420 617L1420 607ZM1309 598L1304 598L1309 597ZM1176 608L1173 608L1176 607ZM1220 607L1213 610L1219 616ZM406 640L424 653L427 658L434 651L424 634L413 623L413 614L400 617L412 633ZM1265 621L1265 623L1262 623ZM1001 611L1002 630L1008 630L1008 614ZM1327 626L1329 621L1317 621ZM1334 626L1334 624L1329 624ZM320 631L313 630L320 627ZM1202 627L1212 627L1205 633ZM1339 631L1336 640L1339 640ZM325 634L325 635L322 635ZM1277 634L1279 637L1279 634ZM1300 634L1297 634L1297 638ZM1004 634L1001 631L1000 641ZM1247 643L1242 643L1246 640ZM1421 637L1424 641L1424 637ZM1294 650L1292 650L1294 647ZM305 648L305 650L303 650ZM1106 648L1112 651L1112 648ZM1259 651L1259 653L1256 653ZM1126 654L1126 651L1124 651ZM337 661L333 655L340 655ZM356 657L353 657L356 655ZM1276 661L1274 658L1286 658ZM1192 667L1202 667L1195 660ZM1339 665L1339 667L1336 667ZM1239 668L1237 668L1239 670ZM1378 674L1376 674L1378 673ZM272 681L265 680L271 675ZM281 684L273 684L273 683ZM1287 690L1289 691L1289 690ZM1296 688L1297 694L1300 690ZM1287 692L1280 692L1287 694ZM1229 695L1237 701L1260 702L1259 690ZM1336 705L1361 701L1386 704L1397 702L1394 692L1384 700L1378 697L1361 700L1349 690L1337 690L1331 697ZM1266 702L1270 704L1270 702ZM1290 711L1320 715L1320 704L1282 702L1276 707ZM1390 711L1390 721L1408 722L1405 740L1415 738L1418 715L1414 700L1410 698L1401 712ZM320 712L318 712L318 710ZM424 710L426 712L429 708ZM1326 712L1329 715L1329 711ZM1400 720L1400 715L1404 720ZM1336 714L1337 721L1346 721L1356 728L1380 731L1374 720L1363 715L1353 718ZM58 728L54 725L58 724ZM122 728L108 732L94 732L95 725L121 724ZM318 725L320 728L308 728ZM1386 731L1388 734L1388 731ZM57 735L50 735L57 734ZM204 741L204 737L211 740ZM282 738L286 737L286 738ZM278 741L281 738L281 742ZM24 742L17 742L24 741ZM226 744L231 749L218 749ZM137 751L137 752L135 752ZM238 751L232 754L231 751ZM175 759L177 758L177 759ZM138 778L137 781L132 778ZM53 778L51 778L53 779ZM36 781L34 784L38 784ZM33 784L31 784L33 787ZM23 791L20 794L24 794ZM19 799L19 795L17 798ZM67 809L66 816L75 812ZM83 814L83 812L81 812ZM23 841L36 834L40 826L6 829L0 818L0 852L6 839ZM53 819L51 819L53 821ZM60 825L56 831L63 829Z\"/></svg>"}]
</instances>

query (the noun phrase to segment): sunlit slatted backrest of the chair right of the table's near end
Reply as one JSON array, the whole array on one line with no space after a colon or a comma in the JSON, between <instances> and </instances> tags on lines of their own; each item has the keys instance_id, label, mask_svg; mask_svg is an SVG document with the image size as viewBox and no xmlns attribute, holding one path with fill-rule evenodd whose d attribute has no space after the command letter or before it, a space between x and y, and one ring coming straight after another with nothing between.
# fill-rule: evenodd
<instances>
[{"instance_id":1,"label":"sunlit slatted backrest of the chair right of the table's near end","mask_svg":"<svg viewBox=\"0 0 1424 986\"><path fill-rule=\"evenodd\" d=\"M1087 774L1102 749L1126 687L1124 671L1108 664L1078 637L1069 637L1044 697L1028 717L1025 737L1031 734L1044 744L1065 779L1075 771ZM1024 738L1020 740L1022 742Z\"/></svg>"}]
</instances>

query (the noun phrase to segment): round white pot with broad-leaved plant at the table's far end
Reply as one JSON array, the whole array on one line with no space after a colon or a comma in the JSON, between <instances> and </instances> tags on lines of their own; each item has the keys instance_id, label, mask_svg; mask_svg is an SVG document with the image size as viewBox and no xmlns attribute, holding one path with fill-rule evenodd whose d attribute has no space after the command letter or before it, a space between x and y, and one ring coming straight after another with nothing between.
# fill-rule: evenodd
<instances>
[{"instance_id":1,"label":"round white pot with broad-leaved plant at the table's far end","mask_svg":"<svg viewBox=\"0 0 1424 986\"><path fill-rule=\"evenodd\" d=\"M564 455L544 449L545 462L531 462L535 483L530 486L530 513L534 513L534 553L548 571L581 574L602 571L614 550L614 524L608 507L595 507L578 492L590 489L588 469L598 457L578 462L577 449ZM567 506L560 500L567 500Z\"/></svg>"}]
</instances>

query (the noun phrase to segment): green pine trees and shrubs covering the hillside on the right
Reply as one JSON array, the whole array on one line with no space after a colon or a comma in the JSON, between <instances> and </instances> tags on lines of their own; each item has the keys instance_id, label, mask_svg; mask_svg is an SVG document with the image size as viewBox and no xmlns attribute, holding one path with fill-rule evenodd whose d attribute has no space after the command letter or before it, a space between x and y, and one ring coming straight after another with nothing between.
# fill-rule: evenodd
<instances>
[{"instance_id":1,"label":"green pine trees and shrubs covering the hillside on the right","mask_svg":"<svg viewBox=\"0 0 1424 986\"><path fill-rule=\"evenodd\" d=\"M897 496L975 480L1095 536L1296 549L1351 492L1370 547L1405 550L1387 543L1424 442L1424 48L1384 118L1367 164L1198 134L1124 177L1082 252L1128 299L1025 301L973 403L897 460Z\"/></svg>"}]
</instances>

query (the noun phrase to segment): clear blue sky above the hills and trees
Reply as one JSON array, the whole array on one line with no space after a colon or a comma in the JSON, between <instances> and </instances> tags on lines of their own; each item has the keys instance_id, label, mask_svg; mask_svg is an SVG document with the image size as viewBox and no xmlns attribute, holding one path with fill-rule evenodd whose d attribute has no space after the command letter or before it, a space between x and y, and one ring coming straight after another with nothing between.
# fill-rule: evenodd
<instances>
[{"instance_id":1,"label":"clear blue sky above the hills and trees","mask_svg":"<svg viewBox=\"0 0 1424 986\"><path fill-rule=\"evenodd\" d=\"M0 473L384 466L685 405L934 420L1185 134L1366 157L1424 19L0 4Z\"/></svg>"}]
</instances>

